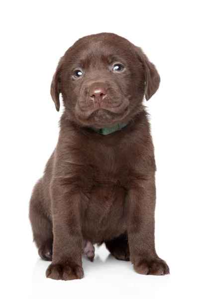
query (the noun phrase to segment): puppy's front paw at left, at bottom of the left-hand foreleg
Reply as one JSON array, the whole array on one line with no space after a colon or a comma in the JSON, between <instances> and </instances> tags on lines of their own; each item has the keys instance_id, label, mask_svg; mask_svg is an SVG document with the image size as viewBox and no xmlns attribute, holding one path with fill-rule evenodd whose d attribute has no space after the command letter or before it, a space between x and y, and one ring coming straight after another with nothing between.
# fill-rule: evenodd
<instances>
[{"instance_id":1,"label":"puppy's front paw at left, at bottom of the left-hand foreleg","mask_svg":"<svg viewBox=\"0 0 199 299\"><path fill-rule=\"evenodd\" d=\"M46 270L46 277L55 280L81 279L84 276L83 268L74 263L50 264Z\"/></svg>"}]
</instances>

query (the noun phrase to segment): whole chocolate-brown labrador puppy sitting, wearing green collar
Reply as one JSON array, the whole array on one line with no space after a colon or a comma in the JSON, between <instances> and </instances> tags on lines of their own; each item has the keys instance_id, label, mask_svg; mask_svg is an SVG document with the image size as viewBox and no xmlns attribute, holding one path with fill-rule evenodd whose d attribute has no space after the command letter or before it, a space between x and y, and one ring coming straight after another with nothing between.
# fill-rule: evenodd
<instances>
[{"instance_id":1,"label":"whole chocolate-brown labrador puppy sitting, wearing green collar","mask_svg":"<svg viewBox=\"0 0 199 299\"><path fill-rule=\"evenodd\" d=\"M142 50L112 33L79 39L51 84L65 110L56 149L30 199L30 221L46 276L82 278L82 251L105 243L140 274L169 274L155 251L155 158L142 104L160 76Z\"/></svg>"}]
</instances>

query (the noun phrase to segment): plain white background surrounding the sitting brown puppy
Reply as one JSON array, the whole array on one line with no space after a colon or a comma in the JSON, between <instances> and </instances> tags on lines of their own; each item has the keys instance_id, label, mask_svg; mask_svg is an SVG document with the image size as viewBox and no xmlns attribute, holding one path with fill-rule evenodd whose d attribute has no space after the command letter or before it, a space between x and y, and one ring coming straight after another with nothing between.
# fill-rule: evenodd
<instances>
[{"instance_id":1,"label":"plain white background surrounding the sitting brown puppy","mask_svg":"<svg viewBox=\"0 0 199 299\"><path fill-rule=\"evenodd\" d=\"M1 298L199 296L199 22L197 1L0 2ZM141 46L161 76L145 103L157 162L156 249L170 276L141 276L96 251L81 281L45 278L32 243L28 202L58 138L50 84L78 38L114 32Z\"/></svg>"}]
</instances>

